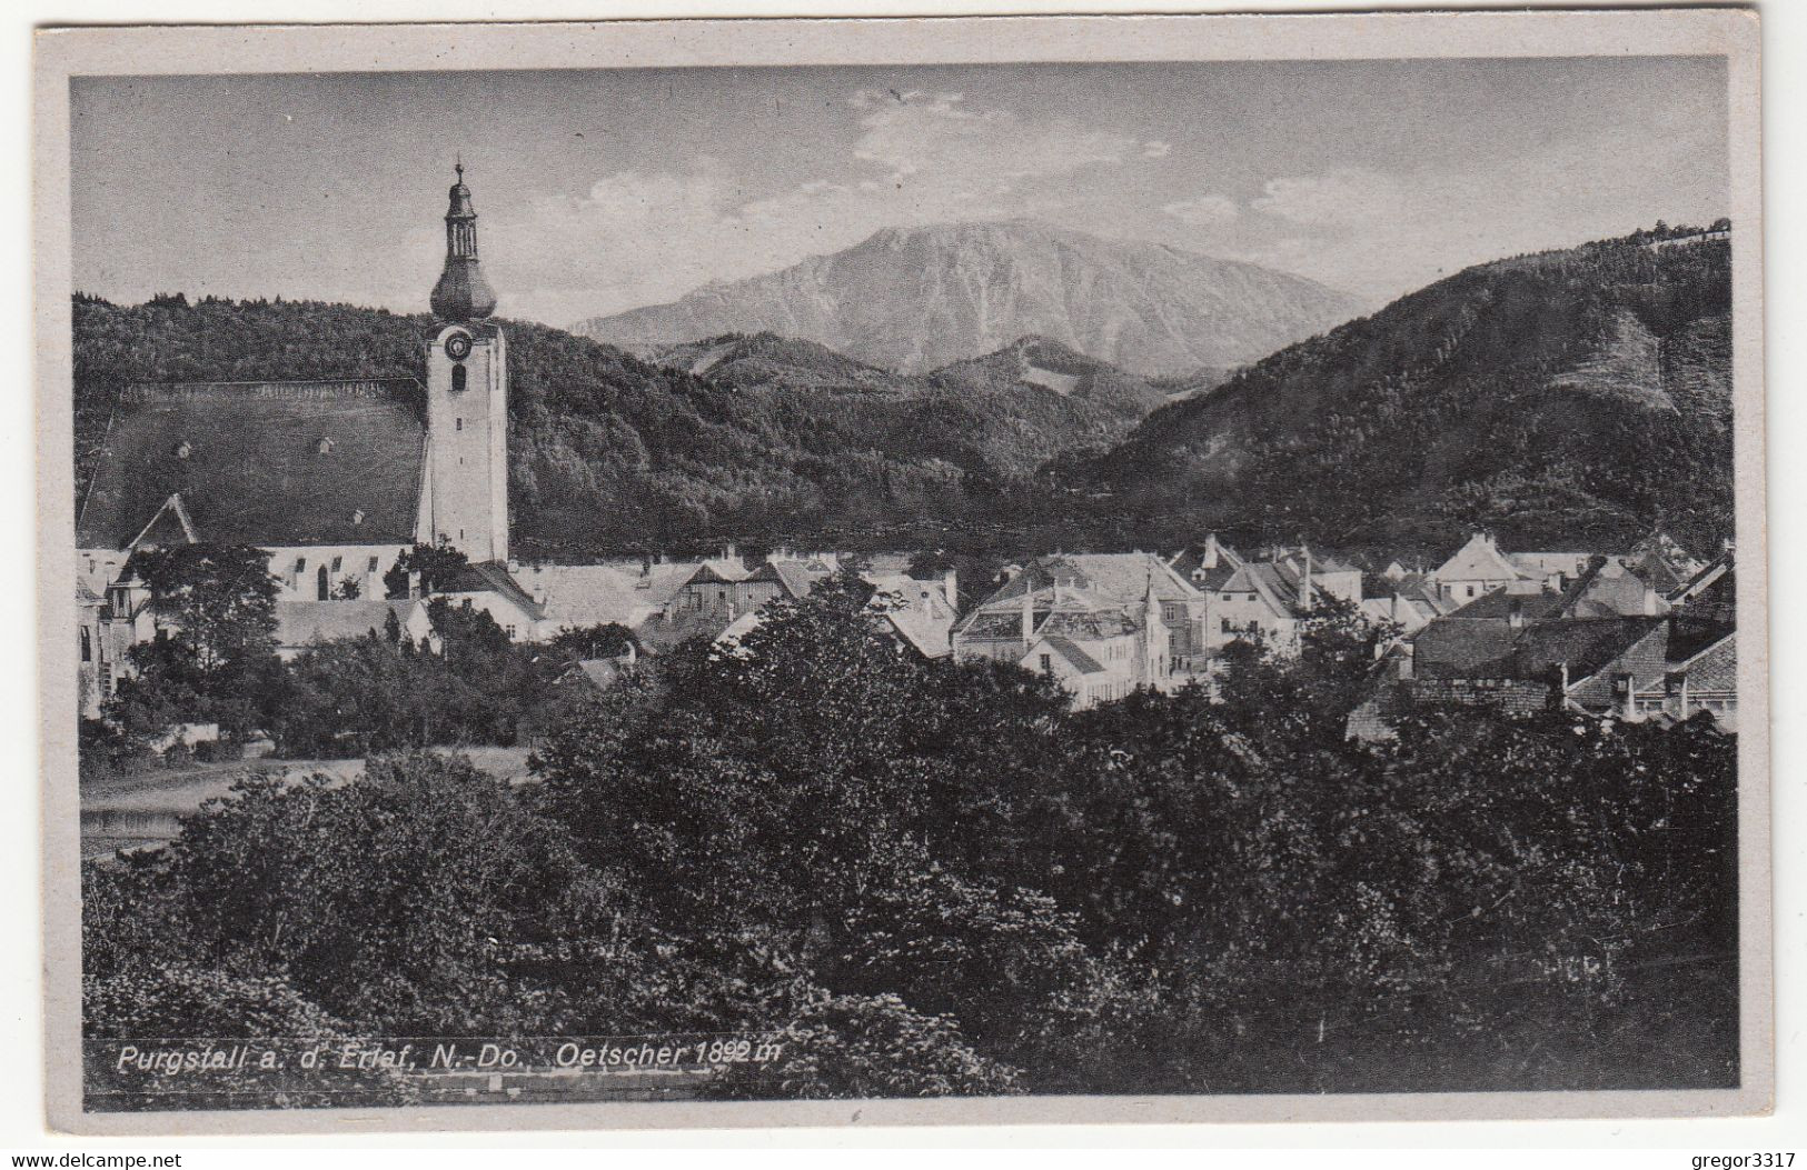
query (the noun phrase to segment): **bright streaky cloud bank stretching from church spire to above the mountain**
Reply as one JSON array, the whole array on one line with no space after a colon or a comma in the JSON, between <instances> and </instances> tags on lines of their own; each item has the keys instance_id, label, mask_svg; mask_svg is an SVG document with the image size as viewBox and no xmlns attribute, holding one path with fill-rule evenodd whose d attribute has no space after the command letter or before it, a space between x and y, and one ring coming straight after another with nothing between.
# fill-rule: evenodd
<instances>
[{"instance_id":1,"label":"bright streaky cloud bank stretching from church spire to above the mountain","mask_svg":"<svg viewBox=\"0 0 1807 1170\"><path fill-rule=\"evenodd\" d=\"M1073 175L1135 159L1131 135L972 108L961 94L860 90L851 157L750 193L717 159L604 175L484 220L502 312L569 323L838 251L882 228L1055 213ZM504 283L508 280L508 283ZM531 291L526 291L531 289Z\"/></svg>"}]
</instances>

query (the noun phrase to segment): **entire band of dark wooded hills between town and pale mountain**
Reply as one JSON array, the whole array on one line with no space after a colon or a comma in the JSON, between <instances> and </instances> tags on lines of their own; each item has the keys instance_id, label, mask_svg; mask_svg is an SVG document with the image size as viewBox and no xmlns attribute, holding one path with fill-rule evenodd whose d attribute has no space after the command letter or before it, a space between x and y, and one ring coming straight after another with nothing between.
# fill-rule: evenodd
<instances>
[{"instance_id":1,"label":"entire band of dark wooded hills between town and pale mountain","mask_svg":"<svg viewBox=\"0 0 1807 1170\"><path fill-rule=\"evenodd\" d=\"M1601 547L1731 534L1731 249L1621 240L1484 264L1155 410L1025 339L931 376L772 334L670 365L508 323L510 500L560 554L710 538L1046 547ZM296 302L74 302L78 489L132 381L421 376L426 318ZM1023 381L1026 365L1072 381ZM701 376L690 370L701 370ZM1214 388L1203 388L1214 386ZM1115 444L1115 446L1113 446Z\"/></svg>"}]
</instances>

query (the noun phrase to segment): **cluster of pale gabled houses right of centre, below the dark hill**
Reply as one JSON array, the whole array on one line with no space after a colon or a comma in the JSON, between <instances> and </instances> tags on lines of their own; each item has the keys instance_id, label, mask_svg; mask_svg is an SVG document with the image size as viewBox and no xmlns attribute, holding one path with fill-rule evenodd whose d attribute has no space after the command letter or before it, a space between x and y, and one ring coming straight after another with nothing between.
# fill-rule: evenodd
<instances>
[{"instance_id":1,"label":"cluster of pale gabled houses right of centre, below the dark hill","mask_svg":"<svg viewBox=\"0 0 1807 1170\"><path fill-rule=\"evenodd\" d=\"M1173 556L1050 554L1012 567L952 630L960 659L1055 677L1079 708L1137 688L1214 684L1236 641L1297 654L1332 599L1395 634L1384 695L1352 724L1384 733L1382 697L1624 719L1737 717L1731 552L1700 562L1664 534L1628 552L1500 549L1475 533L1442 563L1364 567L1310 545L1241 554L1216 536Z\"/></svg>"}]
</instances>

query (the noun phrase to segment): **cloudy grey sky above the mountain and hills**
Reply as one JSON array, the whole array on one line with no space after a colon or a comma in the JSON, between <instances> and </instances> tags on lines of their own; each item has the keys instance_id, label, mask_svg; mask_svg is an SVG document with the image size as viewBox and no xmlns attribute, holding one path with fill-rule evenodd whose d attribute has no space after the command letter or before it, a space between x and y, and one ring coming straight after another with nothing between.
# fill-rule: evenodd
<instances>
[{"instance_id":1,"label":"cloudy grey sky above the mountain and hills","mask_svg":"<svg viewBox=\"0 0 1807 1170\"><path fill-rule=\"evenodd\" d=\"M1718 58L72 83L76 287L425 311L463 157L502 316L569 325L882 228L1034 217L1370 307L1727 211Z\"/></svg>"}]
</instances>

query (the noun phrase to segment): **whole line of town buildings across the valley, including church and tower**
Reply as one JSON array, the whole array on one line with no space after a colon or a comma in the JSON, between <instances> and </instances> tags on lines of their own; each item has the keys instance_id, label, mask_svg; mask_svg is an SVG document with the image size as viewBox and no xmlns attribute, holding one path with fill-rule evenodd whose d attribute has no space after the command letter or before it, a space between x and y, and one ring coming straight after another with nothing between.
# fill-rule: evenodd
<instances>
[{"instance_id":1,"label":"whole line of town buildings across the valley, including church and tower","mask_svg":"<svg viewBox=\"0 0 1807 1170\"><path fill-rule=\"evenodd\" d=\"M434 596L490 614L513 639L618 625L654 654L690 637L735 643L773 601L808 596L838 569L835 554L786 551L585 565L511 556L508 348L477 262L472 193L463 168L455 175L435 320L419 336L425 383L159 383L119 394L76 522L85 713L114 693L130 648L155 637L150 590L130 567L145 547L266 549L284 657L365 632L434 648L432 598L414 587L381 596L423 543L468 558ZM1628 717L1706 710L1726 722L1737 704L1729 556L1704 565L1664 540L1596 556L1509 552L1476 533L1426 569L1303 543L1243 554L1207 536L1175 554L1039 556L963 614L952 574L916 580L905 563L866 569L873 623L900 652L1016 663L1057 679L1077 706L1209 684L1238 641L1296 654L1303 625L1334 599L1397 628L1381 668L1386 693L1531 702L1538 686L1545 699L1558 686L1559 702L1610 699ZM578 673L596 681L620 666Z\"/></svg>"}]
</instances>

